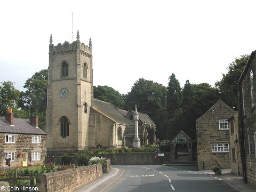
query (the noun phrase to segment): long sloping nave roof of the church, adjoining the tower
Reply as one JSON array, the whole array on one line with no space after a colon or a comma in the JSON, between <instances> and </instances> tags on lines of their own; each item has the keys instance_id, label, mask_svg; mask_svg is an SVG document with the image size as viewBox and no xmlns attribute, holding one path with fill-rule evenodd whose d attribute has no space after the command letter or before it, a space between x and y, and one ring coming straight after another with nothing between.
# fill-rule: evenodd
<instances>
[{"instance_id":1,"label":"long sloping nave roof of the church, adjoining the tower","mask_svg":"<svg viewBox=\"0 0 256 192\"><path fill-rule=\"evenodd\" d=\"M130 119L125 118L125 116L111 103L101 101L98 99L93 100L93 108L97 110L102 115L108 117L112 121L123 124L123 125L134 125L134 122Z\"/></svg>"}]
</instances>

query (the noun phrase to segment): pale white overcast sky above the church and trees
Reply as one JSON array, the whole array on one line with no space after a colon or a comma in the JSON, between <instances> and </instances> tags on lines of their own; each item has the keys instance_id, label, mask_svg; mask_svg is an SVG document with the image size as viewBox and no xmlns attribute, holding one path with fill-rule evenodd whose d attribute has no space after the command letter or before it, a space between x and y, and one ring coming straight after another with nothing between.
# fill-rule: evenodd
<instances>
[{"instance_id":1,"label":"pale white overcast sky above the church and trees","mask_svg":"<svg viewBox=\"0 0 256 192\"><path fill-rule=\"evenodd\" d=\"M140 78L214 86L256 50L256 1L73 0L0 2L0 82L24 91L49 66L49 44L92 39L93 85L121 94Z\"/></svg>"}]
</instances>

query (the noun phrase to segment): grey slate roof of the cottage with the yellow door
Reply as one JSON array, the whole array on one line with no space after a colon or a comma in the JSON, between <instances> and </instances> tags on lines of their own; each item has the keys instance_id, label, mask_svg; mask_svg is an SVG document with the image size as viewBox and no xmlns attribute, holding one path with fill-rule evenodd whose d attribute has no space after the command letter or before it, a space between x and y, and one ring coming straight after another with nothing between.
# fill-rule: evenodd
<instances>
[{"instance_id":1,"label":"grey slate roof of the cottage with the yellow door","mask_svg":"<svg viewBox=\"0 0 256 192\"><path fill-rule=\"evenodd\" d=\"M35 127L29 119L13 118L13 125L0 117L0 133L16 133L16 134L38 134L46 135L39 127Z\"/></svg>"}]
</instances>

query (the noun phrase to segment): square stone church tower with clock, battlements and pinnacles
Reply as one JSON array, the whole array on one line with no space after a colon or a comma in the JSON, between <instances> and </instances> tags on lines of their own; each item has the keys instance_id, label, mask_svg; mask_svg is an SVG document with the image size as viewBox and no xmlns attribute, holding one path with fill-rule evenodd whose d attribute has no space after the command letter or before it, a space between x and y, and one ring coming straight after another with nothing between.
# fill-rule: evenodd
<instances>
[{"instance_id":1,"label":"square stone church tower with clock, battlements and pinnacles","mask_svg":"<svg viewBox=\"0 0 256 192\"><path fill-rule=\"evenodd\" d=\"M49 45L46 109L47 150L82 150L89 146L93 104L92 42Z\"/></svg>"}]
</instances>

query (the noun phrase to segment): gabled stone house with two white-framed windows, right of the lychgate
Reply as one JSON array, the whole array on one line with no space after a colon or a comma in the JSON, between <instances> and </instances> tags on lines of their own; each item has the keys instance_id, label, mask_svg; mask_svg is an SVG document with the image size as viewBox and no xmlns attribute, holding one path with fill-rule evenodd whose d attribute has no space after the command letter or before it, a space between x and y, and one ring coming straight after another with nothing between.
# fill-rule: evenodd
<instances>
[{"instance_id":1,"label":"gabled stone house with two white-framed windows, right of the lychgate","mask_svg":"<svg viewBox=\"0 0 256 192\"><path fill-rule=\"evenodd\" d=\"M231 168L228 119L235 114L236 111L219 100L196 120L198 170Z\"/></svg>"}]
</instances>

